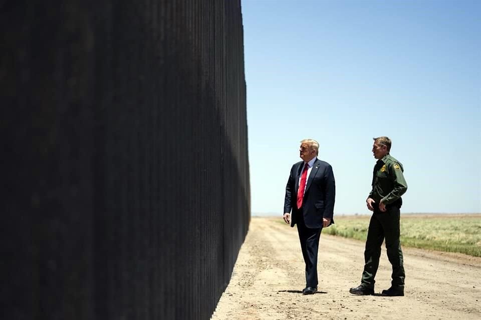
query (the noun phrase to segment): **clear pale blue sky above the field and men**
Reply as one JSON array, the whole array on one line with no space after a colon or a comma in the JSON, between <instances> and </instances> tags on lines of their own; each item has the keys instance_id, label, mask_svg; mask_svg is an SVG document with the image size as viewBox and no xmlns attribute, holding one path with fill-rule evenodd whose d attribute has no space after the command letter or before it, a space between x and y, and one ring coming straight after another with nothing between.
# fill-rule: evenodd
<instances>
[{"instance_id":1,"label":"clear pale blue sky above the field and men","mask_svg":"<svg viewBox=\"0 0 481 320\"><path fill-rule=\"evenodd\" d=\"M369 213L372 137L392 139L401 212L481 212L481 1L243 0L252 212L282 214L303 138Z\"/></svg>"}]
</instances>

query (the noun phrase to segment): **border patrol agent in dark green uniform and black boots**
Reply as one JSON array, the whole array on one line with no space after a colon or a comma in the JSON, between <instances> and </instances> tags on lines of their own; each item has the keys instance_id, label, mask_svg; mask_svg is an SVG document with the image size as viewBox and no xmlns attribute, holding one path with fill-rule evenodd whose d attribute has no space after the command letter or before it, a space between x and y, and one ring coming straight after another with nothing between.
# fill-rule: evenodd
<instances>
[{"instance_id":1,"label":"border patrol agent in dark green uniform and black boots","mask_svg":"<svg viewBox=\"0 0 481 320\"><path fill-rule=\"evenodd\" d=\"M404 168L398 160L389 154L391 139L380 136L374 139L372 152L377 160L372 175L372 189L366 199L367 208L373 211L367 232L364 251L364 271L361 284L351 288L352 294L374 294L374 277L379 266L381 245L386 239L386 250L392 265L391 287L382 290L384 296L404 295L404 266L399 241L400 207L407 190Z\"/></svg>"}]
</instances>

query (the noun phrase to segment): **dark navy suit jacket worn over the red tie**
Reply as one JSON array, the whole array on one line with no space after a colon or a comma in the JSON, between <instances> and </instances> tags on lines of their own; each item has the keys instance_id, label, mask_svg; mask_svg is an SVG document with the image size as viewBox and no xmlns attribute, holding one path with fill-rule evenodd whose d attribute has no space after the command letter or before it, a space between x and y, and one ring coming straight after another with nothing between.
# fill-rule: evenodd
<instances>
[{"instance_id":1,"label":"dark navy suit jacket worn over the red tie","mask_svg":"<svg viewBox=\"0 0 481 320\"><path fill-rule=\"evenodd\" d=\"M284 213L291 212L291 226L296 224L299 214L304 214L304 223L309 228L322 227L322 218L330 218L334 223L334 199L336 196L336 183L334 173L329 163L316 158L311 173L306 182L303 204L297 208L297 191L299 179L304 161L292 166L291 174L286 185L286 197L284 199Z\"/></svg>"}]
</instances>

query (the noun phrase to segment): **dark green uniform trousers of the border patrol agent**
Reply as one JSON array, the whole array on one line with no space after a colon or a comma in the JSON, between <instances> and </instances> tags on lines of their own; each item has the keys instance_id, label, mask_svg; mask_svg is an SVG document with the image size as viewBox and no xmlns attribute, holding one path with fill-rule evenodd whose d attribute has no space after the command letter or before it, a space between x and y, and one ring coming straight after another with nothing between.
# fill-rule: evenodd
<instances>
[{"instance_id":1,"label":"dark green uniform trousers of the border patrol agent","mask_svg":"<svg viewBox=\"0 0 481 320\"><path fill-rule=\"evenodd\" d=\"M361 282L368 287L374 287L374 277L379 266L381 245L386 238L386 250L389 262L392 264L392 286L404 287L404 266L402 263L401 244L399 242L400 211L396 206L388 207L382 212L375 208L369 222L366 249L364 251L364 271Z\"/></svg>"}]
</instances>

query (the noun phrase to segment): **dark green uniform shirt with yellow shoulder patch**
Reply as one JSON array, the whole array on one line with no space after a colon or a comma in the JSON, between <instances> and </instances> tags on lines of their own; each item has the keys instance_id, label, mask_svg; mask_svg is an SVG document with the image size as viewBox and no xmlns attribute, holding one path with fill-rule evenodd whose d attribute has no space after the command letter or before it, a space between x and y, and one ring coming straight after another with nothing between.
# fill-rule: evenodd
<instances>
[{"instance_id":1,"label":"dark green uniform shirt with yellow shoulder patch","mask_svg":"<svg viewBox=\"0 0 481 320\"><path fill-rule=\"evenodd\" d=\"M390 204L401 199L401 195L407 190L403 171L401 162L389 153L382 159L377 160L372 175L372 189L369 197L373 198L376 203L382 200L384 204Z\"/></svg>"}]
</instances>

